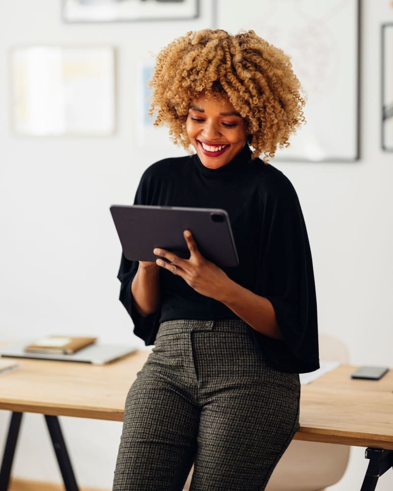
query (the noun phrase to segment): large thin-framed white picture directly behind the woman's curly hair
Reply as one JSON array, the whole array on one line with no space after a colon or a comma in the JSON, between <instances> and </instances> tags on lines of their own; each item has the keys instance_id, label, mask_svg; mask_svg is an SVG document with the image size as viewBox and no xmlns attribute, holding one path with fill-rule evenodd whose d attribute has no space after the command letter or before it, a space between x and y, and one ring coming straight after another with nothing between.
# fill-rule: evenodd
<instances>
[{"instance_id":1,"label":"large thin-framed white picture directly behind the woman's curly hair","mask_svg":"<svg viewBox=\"0 0 393 491\"><path fill-rule=\"evenodd\" d=\"M306 95L307 124L275 160L359 159L359 0L217 1L217 25L253 29L291 58Z\"/></svg>"}]
</instances>

